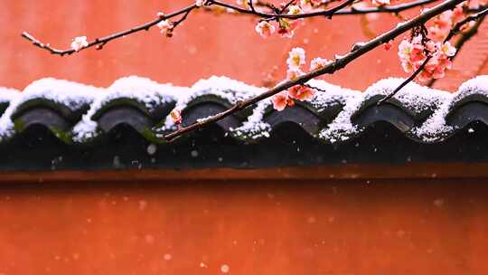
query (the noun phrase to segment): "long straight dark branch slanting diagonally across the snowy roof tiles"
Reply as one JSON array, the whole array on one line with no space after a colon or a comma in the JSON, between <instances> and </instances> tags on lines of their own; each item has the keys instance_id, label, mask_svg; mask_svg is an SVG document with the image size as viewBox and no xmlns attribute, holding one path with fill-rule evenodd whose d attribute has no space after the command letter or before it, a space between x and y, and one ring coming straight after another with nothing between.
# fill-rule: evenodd
<instances>
[{"instance_id":1,"label":"long straight dark branch slanting diagonally across the snowy roof tiles","mask_svg":"<svg viewBox=\"0 0 488 275\"><path fill-rule=\"evenodd\" d=\"M446 0L444 3L440 5L436 5L435 7L425 11L422 14L419 14L418 16L410 19L407 22L404 22L402 24L397 25L397 27L391 29L387 33L382 33L376 38L372 39L368 43L361 43L360 46L356 47L354 51L348 52L347 54L336 57L336 59L333 62L328 63L322 68L319 68L314 71L310 71L308 73L305 73L301 76L297 76L296 79L291 80L291 81L285 81L282 82L281 84L278 84L276 87L267 90L258 96L249 98L248 100L241 100L238 101L235 105L233 105L230 109L227 109L225 111L222 111L216 115L213 115L211 117L208 117L206 119L201 119L197 120L197 122L193 123L192 125L189 125L187 127L179 128L175 130L174 132L167 134L164 136L164 138L168 141L174 140L174 138L179 137L185 133L188 133L192 130L195 130L197 128L203 128L208 126L209 124L216 122L218 120L224 119L231 114L239 111L240 109L244 109L252 104L257 103L258 101L265 100L267 98L270 98L277 93L290 89L296 85L302 85L306 81L310 81L314 79L317 76L326 74L326 73L333 73L334 71L338 71L343 69L347 64L350 62L356 60L357 58L361 57L363 54L370 52L374 48L380 46L383 43L387 43L390 40L393 40L397 36L399 36L402 33L408 32L408 30L425 24L429 19L433 18L437 14L441 14L447 10L454 9L455 5L458 5L460 3L465 2L465 0Z\"/></svg>"}]
</instances>

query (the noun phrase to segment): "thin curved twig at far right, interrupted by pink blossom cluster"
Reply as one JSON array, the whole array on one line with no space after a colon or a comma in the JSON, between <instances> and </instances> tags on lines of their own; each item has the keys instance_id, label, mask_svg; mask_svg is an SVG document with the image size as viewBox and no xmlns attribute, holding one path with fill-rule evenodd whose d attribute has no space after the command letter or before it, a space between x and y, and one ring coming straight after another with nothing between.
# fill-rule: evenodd
<instances>
[{"instance_id":1,"label":"thin curved twig at far right, interrupted by pink blossom cluster","mask_svg":"<svg viewBox=\"0 0 488 275\"><path fill-rule=\"evenodd\" d=\"M485 8L483 11L481 11L477 14L471 14L471 15L467 16L465 19L456 23L455 26L453 28L451 28L451 30L447 34L446 38L444 39L444 43L448 43L449 40L451 40L455 36L455 34L460 33L462 27L465 24L468 24L468 23L473 22L473 21L478 21L478 20L482 19L486 14L488 14L488 8ZM455 53L453 53L452 55L449 55L448 58L452 59L452 58L454 58L454 56L455 56ZM408 77L407 80L403 81L399 85L399 87L397 87L395 90L393 90L391 93L389 93L389 95L387 95L384 98L382 98L381 100L379 100L377 104L380 105L381 103L385 102L386 100L391 99L393 96L395 96L399 92L399 90L401 90L403 87L405 87L410 81L413 81L418 76L418 74L420 72L424 71L424 69L427 66L427 63L430 60L432 60L432 58L433 58L432 55L428 55L426 60L424 62L422 62L422 64L418 67L418 69L416 71L414 71Z\"/></svg>"}]
</instances>

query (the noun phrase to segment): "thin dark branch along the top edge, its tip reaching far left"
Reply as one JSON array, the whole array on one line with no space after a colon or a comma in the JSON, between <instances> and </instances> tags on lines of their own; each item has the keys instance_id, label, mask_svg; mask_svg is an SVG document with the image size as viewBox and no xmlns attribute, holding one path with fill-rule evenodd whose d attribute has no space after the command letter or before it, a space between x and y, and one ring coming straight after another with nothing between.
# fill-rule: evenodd
<instances>
[{"instance_id":1,"label":"thin dark branch along the top edge, its tip reaching far left","mask_svg":"<svg viewBox=\"0 0 488 275\"><path fill-rule=\"evenodd\" d=\"M225 8L230 8L233 11L242 13L242 14L251 14L255 15L261 18L267 18L267 19L276 19L276 18L287 18L287 19L300 19L300 18L306 18L306 17L314 17L314 16L332 16L332 15L346 15L346 14L371 14L371 13L399 13L411 8L415 8L419 5L427 5L433 2L436 2L438 0L418 0L418 1L413 1L410 3L406 4L401 4L401 5L390 5L390 6L379 6L379 7L371 7L371 8L355 8L351 7L349 9L344 9L345 6L351 5L354 1L353 0L346 0L344 1L341 5L337 5L331 9L324 10L324 11L319 11L319 12L312 12L312 13L303 13L303 14L283 14L287 8L287 6L292 5L295 1L290 1L287 5L285 5L282 9L275 10L274 14L267 14L267 13L261 13L258 12L258 10L254 7L253 9L249 10L246 8L242 8L236 5L230 5L223 3L218 0L206 0L206 1L200 1L201 5L219 5L221 7ZM264 4L260 4L264 5ZM187 7L184 7L181 10L178 10L174 13L171 14L160 14L155 20L152 20L150 22L147 22L145 24L140 24L136 27L130 28L125 31L121 31L118 33L112 33L104 37L99 37L96 38L95 40L91 42L86 41L86 37L78 37L76 39L80 39L79 42L75 43L71 49L57 49L51 46L50 43L42 43L39 39L35 38L32 34L23 32L21 36L33 43L34 46L39 47L43 50L46 50L52 54L57 54L57 55L70 55L75 52L80 52L82 50L91 48L91 47L97 47L98 50L102 49L105 44L112 40L116 40L121 37L125 37L129 34L132 33L137 33L140 31L148 31L151 27L157 25L157 24L164 24L168 19L171 19L175 16L179 16L183 14L183 17L176 21L174 24L164 24L164 27L170 31L168 34L171 34L171 31L174 29L174 27L178 24L181 24L183 20L186 19L188 14L190 14L194 9L199 7L199 5L194 4L194 5L189 5ZM76 40L75 39L75 40Z\"/></svg>"}]
</instances>

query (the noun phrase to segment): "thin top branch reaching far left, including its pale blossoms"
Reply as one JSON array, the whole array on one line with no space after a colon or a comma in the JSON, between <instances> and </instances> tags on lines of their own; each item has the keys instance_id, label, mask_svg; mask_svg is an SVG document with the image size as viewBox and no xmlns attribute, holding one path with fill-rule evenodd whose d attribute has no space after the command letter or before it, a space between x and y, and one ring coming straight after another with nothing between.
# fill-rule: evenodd
<instances>
[{"instance_id":1,"label":"thin top branch reaching far left, including its pale blossoms","mask_svg":"<svg viewBox=\"0 0 488 275\"><path fill-rule=\"evenodd\" d=\"M294 30L296 29L299 20L310 17L328 17L332 18L333 15L350 15L350 14L374 14L374 13L392 13L398 14L408 9L416 8L421 5L427 5L434 3L438 0L417 0L400 5L386 5L389 4L389 0L372 0L373 4L377 6L373 7L361 7L355 5L355 0L344 0L341 4L335 5L332 8L326 9L323 6L322 0L301 0L300 5L296 5L298 0L290 0L281 8L277 8L272 4L258 2L257 0L239 0L243 6L230 5L219 0L196 0L195 4L184 7L171 14L158 13L157 17L145 24L140 24L133 28L118 33L112 33L104 37L96 38L92 41L87 40L87 36L75 37L71 43L70 49L57 49L51 46L50 43L42 43L39 39L35 38L32 34L23 32L21 36L33 43L34 46L46 50L52 54L65 56L71 55L82 50L95 47L97 50L101 50L108 42L116 40L121 37L125 37L132 33L141 31L148 31L153 26L157 26L161 33L166 36L173 36L174 28L183 23L187 19L188 15L199 8L212 8L219 7L226 11L230 11L234 14L250 14L258 16L263 22L276 21L277 26L271 26L270 24L261 24L260 27L264 27L267 30L278 29L283 37L292 37ZM239 2L238 1L238 2ZM254 4L256 2L257 4ZM338 1L327 1L327 4ZM246 4L246 5L244 5ZM347 6L352 5L350 8ZM265 9L268 9L265 10ZM170 19L180 16L181 18L176 21ZM273 31L274 32L274 31ZM260 32L263 33L263 32ZM266 33L266 31L264 32ZM264 35L263 35L264 36ZM266 37L266 36L265 36Z\"/></svg>"}]
</instances>

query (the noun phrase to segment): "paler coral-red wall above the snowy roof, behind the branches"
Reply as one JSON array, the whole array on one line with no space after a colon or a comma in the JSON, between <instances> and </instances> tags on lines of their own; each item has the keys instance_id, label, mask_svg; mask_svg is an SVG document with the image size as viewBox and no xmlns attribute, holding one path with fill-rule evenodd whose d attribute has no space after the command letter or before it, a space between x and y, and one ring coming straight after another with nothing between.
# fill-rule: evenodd
<instances>
[{"instance_id":1,"label":"paler coral-red wall above the snowy roof, behind the branches","mask_svg":"<svg viewBox=\"0 0 488 275\"><path fill-rule=\"evenodd\" d=\"M234 2L234 1L231 1ZM0 86L23 89L30 82L53 76L98 86L108 86L117 78L136 74L155 81L191 85L211 75L227 75L256 85L276 71L276 81L285 76L286 54L304 47L310 57L333 58L352 44L366 41L360 18L337 17L307 20L296 39L263 40L254 31L255 18L214 16L200 12L166 39L156 29L108 43L101 52L89 50L71 57L52 56L34 48L20 37L27 31L52 46L66 48L75 36L89 39L124 30L192 3L156 0L3 0L0 9ZM375 33L398 23L389 14L371 24ZM277 66L277 69L275 69ZM405 76L396 49L378 49L327 81L354 89L364 89L388 76Z\"/></svg>"}]
</instances>

